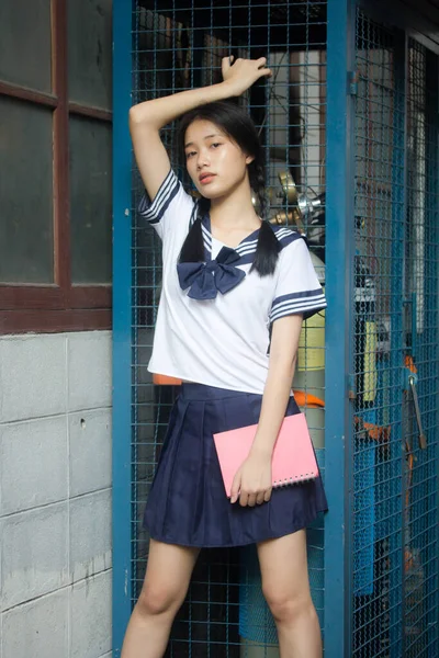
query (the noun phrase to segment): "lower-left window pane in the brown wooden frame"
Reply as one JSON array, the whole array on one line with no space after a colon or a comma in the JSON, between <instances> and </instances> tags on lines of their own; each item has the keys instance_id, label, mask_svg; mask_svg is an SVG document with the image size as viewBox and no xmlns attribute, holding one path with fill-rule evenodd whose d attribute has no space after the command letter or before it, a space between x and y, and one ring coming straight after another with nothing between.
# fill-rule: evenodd
<instances>
[{"instance_id":1,"label":"lower-left window pane in the brown wooden frame","mask_svg":"<svg viewBox=\"0 0 439 658\"><path fill-rule=\"evenodd\" d=\"M54 282L53 112L0 97L0 281Z\"/></svg>"}]
</instances>

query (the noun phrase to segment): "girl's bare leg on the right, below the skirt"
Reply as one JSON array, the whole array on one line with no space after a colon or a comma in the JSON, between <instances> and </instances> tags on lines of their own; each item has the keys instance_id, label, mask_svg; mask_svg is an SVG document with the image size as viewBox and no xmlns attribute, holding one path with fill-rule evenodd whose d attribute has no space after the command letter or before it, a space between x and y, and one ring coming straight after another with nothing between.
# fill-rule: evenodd
<instances>
[{"instance_id":1,"label":"girl's bare leg on the right, below the skirt","mask_svg":"<svg viewBox=\"0 0 439 658\"><path fill-rule=\"evenodd\" d=\"M320 628L309 593L305 531L258 544L258 556L281 658L322 658Z\"/></svg>"}]
</instances>

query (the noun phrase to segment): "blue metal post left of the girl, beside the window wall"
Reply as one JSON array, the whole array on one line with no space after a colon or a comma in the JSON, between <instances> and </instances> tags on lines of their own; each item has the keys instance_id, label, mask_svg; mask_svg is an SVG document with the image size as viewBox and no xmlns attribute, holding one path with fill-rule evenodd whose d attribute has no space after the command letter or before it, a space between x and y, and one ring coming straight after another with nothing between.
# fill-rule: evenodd
<instances>
[{"instance_id":1,"label":"blue metal post left of the girl, beside the window wall","mask_svg":"<svg viewBox=\"0 0 439 658\"><path fill-rule=\"evenodd\" d=\"M113 0L113 658L131 592L131 2Z\"/></svg>"}]
</instances>

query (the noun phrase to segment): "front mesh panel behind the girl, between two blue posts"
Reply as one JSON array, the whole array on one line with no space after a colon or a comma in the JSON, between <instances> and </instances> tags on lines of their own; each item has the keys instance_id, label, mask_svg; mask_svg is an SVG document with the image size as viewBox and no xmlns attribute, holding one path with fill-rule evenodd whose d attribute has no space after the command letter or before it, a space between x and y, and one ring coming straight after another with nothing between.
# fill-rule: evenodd
<instances>
[{"instance_id":1,"label":"front mesh panel behind the girl, between two blue posts","mask_svg":"<svg viewBox=\"0 0 439 658\"><path fill-rule=\"evenodd\" d=\"M221 58L268 56L274 76L243 99L266 149L272 220L307 230L324 282L326 3L232 0L199 2L137 0L133 13L133 102L219 81ZM173 126L164 131L178 175L188 183ZM299 200L285 193L279 174L289 171ZM142 185L133 168L133 207ZM299 202L299 203L297 203ZM301 211L297 211L297 207ZM277 219L274 217L277 216ZM146 566L148 537L140 520L177 394L154 386L146 365L159 299L160 245L137 218L133 227L132 350L132 592L134 604ZM319 260L317 260L319 259ZM307 324L295 387L318 398L307 406L324 470L324 315ZM308 533L313 595L323 623L323 527ZM176 621L169 656L278 655L271 615L261 598L255 555L205 551Z\"/></svg>"}]
</instances>

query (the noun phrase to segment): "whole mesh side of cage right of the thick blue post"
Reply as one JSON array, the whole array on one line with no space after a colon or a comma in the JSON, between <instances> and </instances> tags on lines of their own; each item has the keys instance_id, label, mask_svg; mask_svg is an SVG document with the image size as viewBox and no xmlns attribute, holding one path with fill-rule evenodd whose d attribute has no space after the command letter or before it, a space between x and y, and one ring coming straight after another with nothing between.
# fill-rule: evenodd
<instances>
[{"instance_id":1,"label":"whole mesh side of cage right of the thick blue post","mask_svg":"<svg viewBox=\"0 0 439 658\"><path fill-rule=\"evenodd\" d=\"M438 61L358 11L357 69L351 655L432 657L439 655Z\"/></svg>"}]
</instances>

